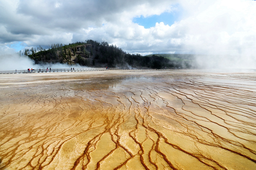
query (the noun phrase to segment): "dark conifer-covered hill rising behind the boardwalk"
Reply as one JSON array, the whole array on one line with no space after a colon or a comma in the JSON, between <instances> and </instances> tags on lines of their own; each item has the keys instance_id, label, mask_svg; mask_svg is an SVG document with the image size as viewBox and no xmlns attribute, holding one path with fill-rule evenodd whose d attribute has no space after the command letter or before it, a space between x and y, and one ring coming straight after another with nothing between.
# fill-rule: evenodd
<instances>
[{"instance_id":1,"label":"dark conifer-covered hill rising behind the boardwalk","mask_svg":"<svg viewBox=\"0 0 256 170\"><path fill-rule=\"evenodd\" d=\"M107 42L99 43L93 40L76 42L68 45L52 44L49 49L39 46L37 49L25 49L19 52L27 55L36 64L40 63L67 63L80 64L88 67L119 67L119 68L191 68L193 58L175 58L162 55L129 54L121 48L109 45ZM182 55L182 54L180 54Z\"/></svg>"}]
</instances>

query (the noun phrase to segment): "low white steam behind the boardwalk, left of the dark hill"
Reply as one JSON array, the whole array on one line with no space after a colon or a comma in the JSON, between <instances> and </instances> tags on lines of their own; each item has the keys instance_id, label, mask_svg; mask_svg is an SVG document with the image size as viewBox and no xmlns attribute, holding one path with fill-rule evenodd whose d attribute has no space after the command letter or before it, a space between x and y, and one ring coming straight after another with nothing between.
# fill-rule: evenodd
<instances>
[{"instance_id":1,"label":"low white steam behind the boardwalk, left of the dark hill","mask_svg":"<svg viewBox=\"0 0 256 170\"><path fill-rule=\"evenodd\" d=\"M20 56L18 54L6 54L0 55L0 63L1 63L1 71L10 71L10 70L27 70L28 68L33 69L46 69L48 68L88 68L85 66L76 65L68 65L61 63L47 63L47 64L35 64L34 60L31 60L28 56Z\"/></svg>"}]
</instances>

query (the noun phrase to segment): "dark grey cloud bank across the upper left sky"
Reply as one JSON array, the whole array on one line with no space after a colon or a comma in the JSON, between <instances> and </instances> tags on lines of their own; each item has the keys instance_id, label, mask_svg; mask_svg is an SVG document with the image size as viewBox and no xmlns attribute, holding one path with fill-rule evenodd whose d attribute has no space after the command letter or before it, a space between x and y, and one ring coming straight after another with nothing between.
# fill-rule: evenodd
<instances>
[{"instance_id":1,"label":"dark grey cloud bank across the upper left sky","mask_svg":"<svg viewBox=\"0 0 256 170\"><path fill-rule=\"evenodd\" d=\"M136 16L150 16L161 14L163 11L170 10L172 1L1 1L1 19L0 23L0 43L8 43L12 41L26 41L28 46L48 45L48 42L41 41L47 37L55 37L56 41L61 41L65 35L68 39L58 43L72 43L80 41L77 37L83 37L83 41L87 39L83 30L93 28L96 30L104 29L103 24L136 29L129 24ZM128 27L127 27L128 26ZM102 28L103 27L103 28ZM109 31L108 27L103 31ZM95 32L95 31L94 31ZM117 32L116 32L117 33ZM126 31L121 31L120 34ZM98 34L98 33L97 33ZM109 35L110 34L110 35ZM59 35L59 37L57 37ZM79 35L76 37L76 35ZM111 32L103 32L95 35L96 40L113 37ZM96 37L97 36L97 37ZM115 37L116 35L114 35ZM128 35L129 36L129 35ZM41 38L45 37L45 38ZM92 36L93 37L93 36ZM114 38L113 37L113 38ZM69 41L69 42L68 42ZM52 42L52 43L55 43ZM39 44L40 43L40 44ZM51 44L51 43L50 43Z\"/></svg>"}]
</instances>

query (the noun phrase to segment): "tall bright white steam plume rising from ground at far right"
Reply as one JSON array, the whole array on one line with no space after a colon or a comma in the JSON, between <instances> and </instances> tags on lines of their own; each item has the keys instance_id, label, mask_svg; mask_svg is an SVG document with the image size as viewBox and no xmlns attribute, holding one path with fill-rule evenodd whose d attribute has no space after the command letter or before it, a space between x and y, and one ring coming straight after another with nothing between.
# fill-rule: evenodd
<instances>
[{"instance_id":1,"label":"tall bright white steam plume rising from ground at far right","mask_svg":"<svg viewBox=\"0 0 256 170\"><path fill-rule=\"evenodd\" d=\"M178 23L186 28L183 51L198 54L197 67L256 69L255 1L181 3L187 12Z\"/></svg>"}]
</instances>

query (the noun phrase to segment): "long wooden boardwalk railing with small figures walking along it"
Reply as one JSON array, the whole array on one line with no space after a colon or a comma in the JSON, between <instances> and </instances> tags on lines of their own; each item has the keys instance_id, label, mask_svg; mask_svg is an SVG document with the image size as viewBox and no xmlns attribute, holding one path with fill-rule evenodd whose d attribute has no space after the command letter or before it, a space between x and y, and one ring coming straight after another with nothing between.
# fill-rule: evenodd
<instances>
[{"instance_id":1,"label":"long wooden boardwalk railing with small figures walking along it","mask_svg":"<svg viewBox=\"0 0 256 170\"><path fill-rule=\"evenodd\" d=\"M88 71L103 71L103 70L116 70L119 68L51 68L50 69L33 69L33 70L12 70L0 71L0 74L17 74L17 73L51 73L51 72L88 72Z\"/></svg>"}]
</instances>

